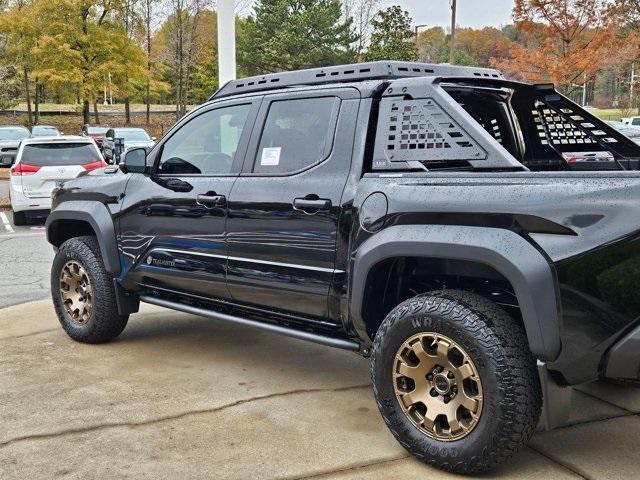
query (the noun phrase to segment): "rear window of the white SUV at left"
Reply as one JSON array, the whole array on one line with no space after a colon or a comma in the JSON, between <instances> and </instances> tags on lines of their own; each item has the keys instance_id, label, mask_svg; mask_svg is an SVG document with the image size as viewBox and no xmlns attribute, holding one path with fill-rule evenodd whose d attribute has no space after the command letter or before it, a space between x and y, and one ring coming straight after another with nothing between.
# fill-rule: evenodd
<instances>
[{"instance_id":1,"label":"rear window of the white SUV at left","mask_svg":"<svg viewBox=\"0 0 640 480\"><path fill-rule=\"evenodd\" d=\"M86 165L102 160L90 143L43 143L25 145L21 162L40 167Z\"/></svg>"}]
</instances>

